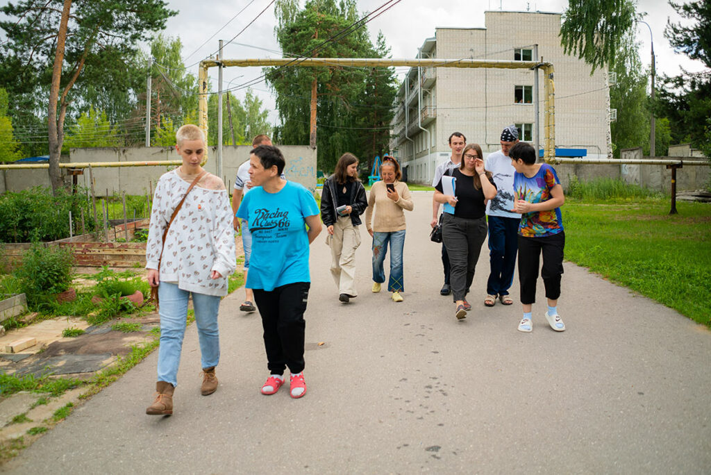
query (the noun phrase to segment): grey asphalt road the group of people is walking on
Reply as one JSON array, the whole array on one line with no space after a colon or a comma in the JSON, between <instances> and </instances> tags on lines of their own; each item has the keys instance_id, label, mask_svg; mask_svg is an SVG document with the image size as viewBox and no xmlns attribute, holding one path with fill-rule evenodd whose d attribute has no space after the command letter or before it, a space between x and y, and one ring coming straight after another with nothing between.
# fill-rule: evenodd
<instances>
[{"instance_id":1,"label":"grey asphalt road the group of people is walking on","mask_svg":"<svg viewBox=\"0 0 711 475\"><path fill-rule=\"evenodd\" d=\"M516 331L520 305L483 306L488 251L456 321L440 297L432 193L407 213L405 301L372 294L370 236L360 297L338 302L325 235L311 246L306 383L264 396L258 314L220 309L220 388L200 395L194 326L172 417L144 414L157 352L77 407L4 470L18 474L675 473L711 471L711 332L677 312L565 264L559 311ZM564 223L565 223L565 208ZM387 262L387 261L386 261ZM518 284L514 284L518 297ZM517 300L517 299L515 299ZM324 343L319 346L319 343Z\"/></svg>"}]
</instances>

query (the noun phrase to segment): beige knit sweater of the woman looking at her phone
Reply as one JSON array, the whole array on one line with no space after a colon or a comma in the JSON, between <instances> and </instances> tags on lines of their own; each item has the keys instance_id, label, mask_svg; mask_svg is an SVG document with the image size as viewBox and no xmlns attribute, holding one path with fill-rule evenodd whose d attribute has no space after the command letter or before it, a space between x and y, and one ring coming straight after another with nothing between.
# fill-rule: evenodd
<instances>
[{"instance_id":1,"label":"beige knit sweater of the woman looking at her phone","mask_svg":"<svg viewBox=\"0 0 711 475\"><path fill-rule=\"evenodd\" d=\"M375 233L392 233L405 229L405 213L414 207L407 183L395 181L395 191L400 195L397 201L387 198L385 183L376 181L368 193L368 208L365 208L365 228ZM373 217L375 208L375 217ZM373 221L371 225L371 220Z\"/></svg>"}]
</instances>

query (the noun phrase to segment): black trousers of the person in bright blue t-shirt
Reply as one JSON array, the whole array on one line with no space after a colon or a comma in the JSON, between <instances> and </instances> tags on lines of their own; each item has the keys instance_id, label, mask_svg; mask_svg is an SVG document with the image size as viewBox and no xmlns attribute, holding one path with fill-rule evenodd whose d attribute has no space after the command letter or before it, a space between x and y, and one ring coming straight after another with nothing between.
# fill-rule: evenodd
<instances>
[{"instance_id":1,"label":"black trousers of the person in bright blue t-shirt","mask_svg":"<svg viewBox=\"0 0 711 475\"><path fill-rule=\"evenodd\" d=\"M295 282L271 292L254 289L271 374L283 375L287 366L292 374L304 370L304 312L310 287L309 282Z\"/></svg>"}]
</instances>

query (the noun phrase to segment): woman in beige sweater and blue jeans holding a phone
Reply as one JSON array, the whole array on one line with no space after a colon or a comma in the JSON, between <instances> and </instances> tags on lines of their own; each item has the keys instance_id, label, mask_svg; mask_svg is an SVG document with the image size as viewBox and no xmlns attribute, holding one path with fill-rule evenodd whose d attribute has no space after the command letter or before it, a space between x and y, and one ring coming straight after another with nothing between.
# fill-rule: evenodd
<instances>
[{"instance_id":1,"label":"woman in beige sweater and blue jeans holding a phone","mask_svg":"<svg viewBox=\"0 0 711 475\"><path fill-rule=\"evenodd\" d=\"M391 156L383 157L380 166L381 181L373 183L365 210L365 228L373 237L373 292L380 292L385 282L383 261L390 242L390 279L387 291L392 292L392 301L402 301L400 292L405 290L402 275L402 250L405 246L405 213L412 211L412 196L407 183L400 181L400 164ZM375 213L373 213L375 208Z\"/></svg>"}]
</instances>

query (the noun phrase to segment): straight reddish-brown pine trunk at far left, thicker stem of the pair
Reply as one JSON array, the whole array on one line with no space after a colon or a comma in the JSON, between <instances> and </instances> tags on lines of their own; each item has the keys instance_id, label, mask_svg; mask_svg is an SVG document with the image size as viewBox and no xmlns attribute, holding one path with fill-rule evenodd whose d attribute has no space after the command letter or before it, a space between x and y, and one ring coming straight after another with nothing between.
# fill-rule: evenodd
<instances>
[{"instance_id":1,"label":"straight reddish-brown pine trunk at far left, thicker stem of the pair","mask_svg":"<svg viewBox=\"0 0 711 475\"><path fill-rule=\"evenodd\" d=\"M57 102L59 100L59 83L62 79L62 65L64 63L64 43L67 38L67 23L69 22L69 12L71 8L72 0L64 0L62 19L59 23L59 33L57 35L57 52L54 56L54 68L52 70L52 87L49 93L49 179L52 183L52 192L55 195L58 190L62 188L62 176L59 173L59 157L62 154L66 105L63 104L62 113L60 117L57 117Z\"/></svg>"}]
</instances>

